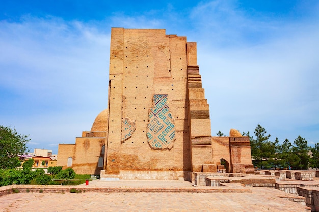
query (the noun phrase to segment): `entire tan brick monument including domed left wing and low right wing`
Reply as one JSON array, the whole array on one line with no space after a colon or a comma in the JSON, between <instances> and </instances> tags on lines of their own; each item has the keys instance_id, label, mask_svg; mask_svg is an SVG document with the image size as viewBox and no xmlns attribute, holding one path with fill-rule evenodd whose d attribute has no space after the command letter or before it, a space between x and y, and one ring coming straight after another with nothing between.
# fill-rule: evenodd
<instances>
[{"instance_id":1,"label":"entire tan brick monument including domed left wing and low right wing","mask_svg":"<svg viewBox=\"0 0 319 212\"><path fill-rule=\"evenodd\" d=\"M59 144L57 166L101 179L254 174L248 137L211 136L196 42L165 29L112 28L109 74L108 109L75 144Z\"/></svg>"}]
</instances>

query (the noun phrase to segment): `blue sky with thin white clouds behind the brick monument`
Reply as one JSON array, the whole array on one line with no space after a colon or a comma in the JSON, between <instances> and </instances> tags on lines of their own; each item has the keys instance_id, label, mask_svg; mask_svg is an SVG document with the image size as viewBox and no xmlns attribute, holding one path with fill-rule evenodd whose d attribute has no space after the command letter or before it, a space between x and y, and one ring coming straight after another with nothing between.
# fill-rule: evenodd
<instances>
[{"instance_id":1,"label":"blue sky with thin white clouds behind the brick monument","mask_svg":"<svg viewBox=\"0 0 319 212\"><path fill-rule=\"evenodd\" d=\"M107 107L111 27L197 42L211 134L319 142L318 1L1 1L0 124L75 143Z\"/></svg>"}]
</instances>

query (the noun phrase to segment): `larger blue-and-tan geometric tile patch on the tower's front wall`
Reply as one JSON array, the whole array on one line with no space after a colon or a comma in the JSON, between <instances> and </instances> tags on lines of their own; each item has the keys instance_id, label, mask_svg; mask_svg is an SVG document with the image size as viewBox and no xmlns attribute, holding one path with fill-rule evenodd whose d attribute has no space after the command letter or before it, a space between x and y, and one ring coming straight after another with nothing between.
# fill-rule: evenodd
<instances>
[{"instance_id":1,"label":"larger blue-and-tan geometric tile patch on the tower's front wall","mask_svg":"<svg viewBox=\"0 0 319 212\"><path fill-rule=\"evenodd\" d=\"M154 107L148 113L147 137L152 149L171 149L175 138L175 122L167 94L155 94Z\"/></svg>"}]
</instances>

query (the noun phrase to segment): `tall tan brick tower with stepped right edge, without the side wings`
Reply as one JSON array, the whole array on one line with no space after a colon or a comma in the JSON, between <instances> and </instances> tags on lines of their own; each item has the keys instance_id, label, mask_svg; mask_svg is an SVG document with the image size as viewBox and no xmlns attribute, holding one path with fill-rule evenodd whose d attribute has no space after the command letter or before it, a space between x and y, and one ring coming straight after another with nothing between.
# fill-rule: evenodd
<instances>
[{"instance_id":1,"label":"tall tan brick tower with stepped right edge, without the side wings","mask_svg":"<svg viewBox=\"0 0 319 212\"><path fill-rule=\"evenodd\" d=\"M195 42L164 29L112 28L105 174L212 164L196 56Z\"/></svg>"}]
</instances>

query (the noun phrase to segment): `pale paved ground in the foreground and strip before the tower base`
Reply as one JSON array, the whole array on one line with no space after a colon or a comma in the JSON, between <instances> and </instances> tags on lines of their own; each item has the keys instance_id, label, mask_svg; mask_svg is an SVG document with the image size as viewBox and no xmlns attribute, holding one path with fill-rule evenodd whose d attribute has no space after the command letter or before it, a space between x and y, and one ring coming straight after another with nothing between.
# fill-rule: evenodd
<instances>
[{"instance_id":1,"label":"pale paved ground in the foreground and strip before the tower base","mask_svg":"<svg viewBox=\"0 0 319 212\"><path fill-rule=\"evenodd\" d=\"M110 185L192 186L188 183L145 183L145 181L122 183L92 181L89 186ZM287 200L289 194L282 191L256 187L251 188L251 191L251 193L16 193L0 197L0 211L306 211L305 206Z\"/></svg>"}]
</instances>

